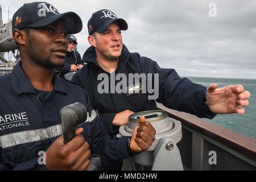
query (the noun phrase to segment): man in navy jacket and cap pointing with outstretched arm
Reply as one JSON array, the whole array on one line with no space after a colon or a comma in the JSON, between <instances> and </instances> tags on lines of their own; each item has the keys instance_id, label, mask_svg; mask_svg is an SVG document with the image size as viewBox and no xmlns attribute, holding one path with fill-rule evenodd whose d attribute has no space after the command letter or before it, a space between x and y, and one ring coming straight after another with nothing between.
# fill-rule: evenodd
<instances>
[{"instance_id":1,"label":"man in navy jacket and cap pointing with outstretched arm","mask_svg":"<svg viewBox=\"0 0 256 182\"><path fill-rule=\"evenodd\" d=\"M88 21L89 47L82 59L88 63L73 76L73 81L86 88L94 109L98 110L110 135L118 133L120 125L127 123L130 114L157 109L155 100L171 109L213 118L216 114L243 114L249 104L250 93L242 85L217 89L212 84L207 89L187 78L180 78L174 69L159 65L139 53L130 53L123 45L121 30L127 30L125 20L117 18L110 10L99 10ZM152 92L143 90L143 80L131 84L130 74L152 76L144 88L155 85L158 97L150 99ZM121 81L122 80L122 81ZM125 81L123 81L125 80ZM127 84L125 83L127 81ZM105 84L107 82L108 84ZM145 81L144 81L145 82ZM124 88L121 88L120 85ZM119 88L123 92L117 91ZM149 87L150 88L150 87ZM102 90L104 92L102 92ZM145 90L145 89L144 89Z\"/></svg>"}]
</instances>

